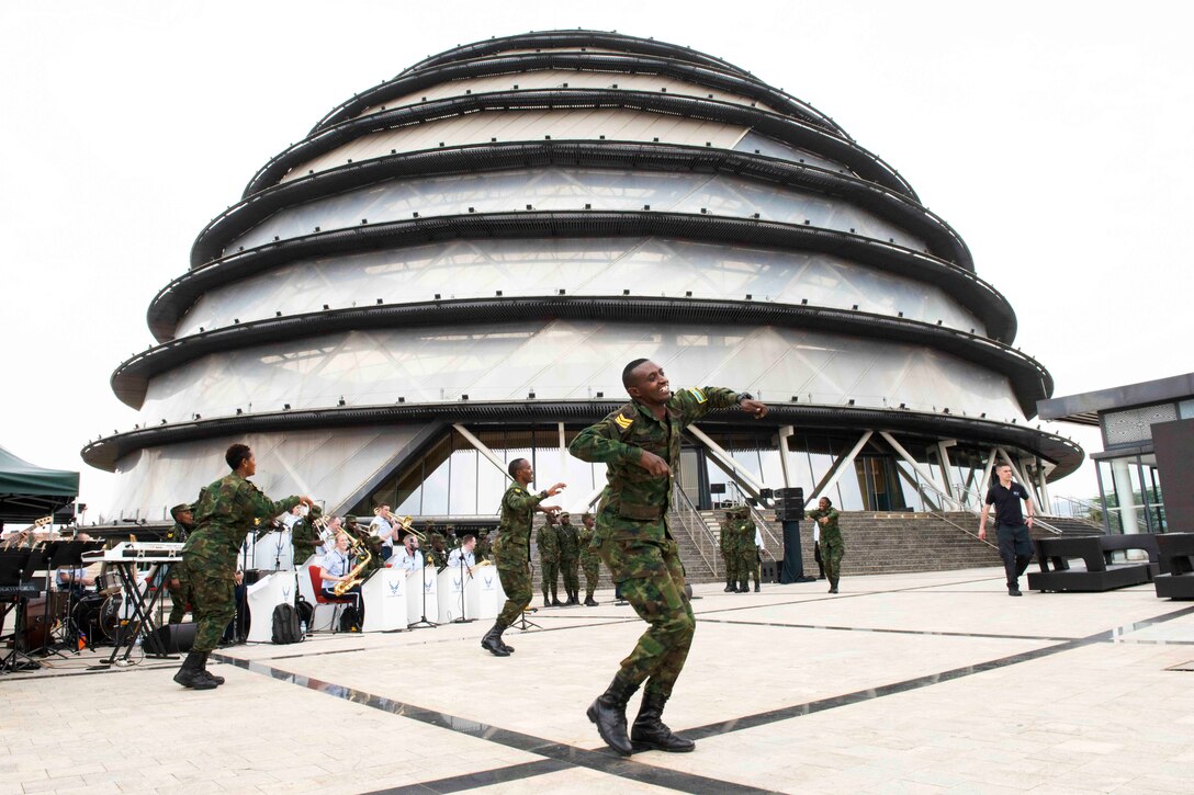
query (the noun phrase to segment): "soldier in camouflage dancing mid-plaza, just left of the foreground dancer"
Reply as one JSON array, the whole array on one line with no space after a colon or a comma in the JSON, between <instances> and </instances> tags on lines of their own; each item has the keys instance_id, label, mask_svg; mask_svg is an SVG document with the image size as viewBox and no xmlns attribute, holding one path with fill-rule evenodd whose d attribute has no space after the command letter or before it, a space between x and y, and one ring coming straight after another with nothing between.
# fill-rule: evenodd
<instances>
[{"instance_id":1,"label":"soldier in camouflage dancing mid-plaza, just left of the foreground dancer","mask_svg":"<svg viewBox=\"0 0 1194 795\"><path fill-rule=\"evenodd\" d=\"M506 592L506 603L498 614L493 628L481 639L481 648L497 657L509 657L513 649L501 641L501 633L515 623L530 604L534 586L530 580L530 528L535 511L555 511L554 505L541 505L548 497L558 494L564 483L531 494L527 487L535 480L535 472L525 458L510 462L513 483L501 495L501 519L498 540L493 542L493 556L498 567L498 579Z\"/></svg>"}]
</instances>

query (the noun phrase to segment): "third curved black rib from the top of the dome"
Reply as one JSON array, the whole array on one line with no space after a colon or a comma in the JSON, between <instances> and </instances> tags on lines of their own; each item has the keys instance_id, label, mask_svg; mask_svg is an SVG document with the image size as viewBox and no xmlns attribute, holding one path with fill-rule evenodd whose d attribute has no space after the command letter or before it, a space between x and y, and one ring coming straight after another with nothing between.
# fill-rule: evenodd
<instances>
[{"instance_id":1,"label":"third curved black rib from the top of the dome","mask_svg":"<svg viewBox=\"0 0 1194 795\"><path fill-rule=\"evenodd\" d=\"M436 99L361 116L330 127L271 158L248 181L241 197L246 198L276 185L296 166L373 132L464 116L478 111L576 109L635 110L752 128L769 137L806 148L829 160L841 162L863 179L878 183L913 201L919 201L916 191L900 177L899 172L878 155L853 141L831 135L818 127L733 103L622 88L494 91Z\"/></svg>"}]
</instances>

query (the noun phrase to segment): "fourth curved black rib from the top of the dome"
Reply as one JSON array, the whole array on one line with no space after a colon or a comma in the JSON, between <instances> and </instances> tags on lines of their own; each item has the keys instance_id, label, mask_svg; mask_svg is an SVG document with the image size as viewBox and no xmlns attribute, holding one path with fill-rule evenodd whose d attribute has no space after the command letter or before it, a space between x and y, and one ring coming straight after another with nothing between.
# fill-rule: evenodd
<instances>
[{"instance_id":1,"label":"fourth curved black rib from the top of the dome","mask_svg":"<svg viewBox=\"0 0 1194 795\"><path fill-rule=\"evenodd\" d=\"M874 183L818 166L730 149L617 141L524 141L421 149L300 177L253 193L213 218L191 247L191 267L221 257L229 241L294 204L394 178L544 166L725 173L841 197L923 238L929 251L941 259L974 270L966 244L943 218Z\"/></svg>"}]
</instances>

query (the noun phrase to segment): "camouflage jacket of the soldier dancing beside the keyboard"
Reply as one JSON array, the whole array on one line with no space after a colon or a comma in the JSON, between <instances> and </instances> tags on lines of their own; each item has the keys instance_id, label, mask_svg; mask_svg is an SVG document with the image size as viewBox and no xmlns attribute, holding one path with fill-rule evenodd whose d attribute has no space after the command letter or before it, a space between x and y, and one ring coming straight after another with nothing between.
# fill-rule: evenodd
<instances>
[{"instance_id":1,"label":"camouflage jacket of the soldier dancing beside the keyboard","mask_svg":"<svg viewBox=\"0 0 1194 795\"><path fill-rule=\"evenodd\" d=\"M232 579L236 574L236 554L253 520L272 519L296 505L297 497L272 501L253 481L236 473L207 486L195 504L195 531L183 547L187 571Z\"/></svg>"}]
</instances>

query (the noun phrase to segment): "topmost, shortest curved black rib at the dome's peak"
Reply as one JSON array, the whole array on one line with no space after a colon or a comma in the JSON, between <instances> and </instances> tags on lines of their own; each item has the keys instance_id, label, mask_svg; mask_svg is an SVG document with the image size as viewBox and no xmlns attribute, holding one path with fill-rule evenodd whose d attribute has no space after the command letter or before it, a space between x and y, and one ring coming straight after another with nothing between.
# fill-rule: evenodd
<instances>
[{"instance_id":1,"label":"topmost, shortest curved black rib at the dome's peak","mask_svg":"<svg viewBox=\"0 0 1194 795\"><path fill-rule=\"evenodd\" d=\"M737 67L728 61L713 57L712 55L706 55L704 53L694 50L690 47L681 47L679 44L657 42L653 38L640 38L638 36L627 36L624 33L604 30L528 31L525 33L515 33L512 36L496 36L485 41L473 42L472 44L457 44L456 47L444 50L437 55L429 55L414 66L404 69L402 74L435 66L442 66L444 63L486 57L504 50L525 50L544 47L597 47L602 49L618 50L622 53L656 55L659 57L671 58L673 61L687 61L690 63L712 67L714 69L734 72L743 76L751 76L750 72L743 69L741 67Z\"/></svg>"}]
</instances>

